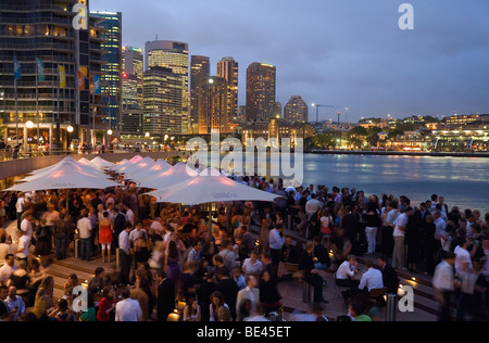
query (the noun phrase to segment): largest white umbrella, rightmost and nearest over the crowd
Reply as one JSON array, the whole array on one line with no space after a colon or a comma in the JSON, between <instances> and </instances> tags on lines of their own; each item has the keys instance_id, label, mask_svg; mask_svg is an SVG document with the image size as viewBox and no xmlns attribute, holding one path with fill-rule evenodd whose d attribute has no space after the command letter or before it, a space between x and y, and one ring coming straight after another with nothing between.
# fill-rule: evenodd
<instances>
[{"instance_id":1,"label":"largest white umbrella, rightmost and nearest over the crowd","mask_svg":"<svg viewBox=\"0 0 489 343\"><path fill-rule=\"evenodd\" d=\"M283 198L238 183L213 168L208 168L193 178L148 194L156 198L159 203L187 205L227 201L275 202L275 199Z\"/></svg>"}]
</instances>

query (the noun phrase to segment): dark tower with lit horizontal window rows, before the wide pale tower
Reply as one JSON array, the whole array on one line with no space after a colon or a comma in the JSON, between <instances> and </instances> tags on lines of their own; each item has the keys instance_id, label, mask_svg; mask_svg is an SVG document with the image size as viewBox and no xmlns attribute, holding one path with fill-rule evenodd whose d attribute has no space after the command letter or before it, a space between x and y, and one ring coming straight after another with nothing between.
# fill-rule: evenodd
<instances>
[{"instance_id":1,"label":"dark tower with lit horizontal window rows, before the wide pale tower","mask_svg":"<svg viewBox=\"0 0 489 343\"><path fill-rule=\"evenodd\" d=\"M181 134L183 78L171 68L161 66L153 66L145 72L142 117L145 134L149 132L151 136Z\"/></svg>"}]
</instances>

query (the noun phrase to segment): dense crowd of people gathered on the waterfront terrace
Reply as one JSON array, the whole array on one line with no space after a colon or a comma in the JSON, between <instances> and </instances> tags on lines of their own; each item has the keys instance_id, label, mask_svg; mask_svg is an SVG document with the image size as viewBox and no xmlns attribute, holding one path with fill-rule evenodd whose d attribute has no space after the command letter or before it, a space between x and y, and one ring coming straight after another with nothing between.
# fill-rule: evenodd
<instances>
[{"instance_id":1,"label":"dense crowd of people gathered on the waterfront terrace","mask_svg":"<svg viewBox=\"0 0 489 343\"><path fill-rule=\"evenodd\" d=\"M372 320L378 314L365 300L369 291L386 287L397 293L397 271L403 269L435 277L443 313L450 310L448 294L456 295L460 320L477 310L482 303L477 298L487 306L488 214L481 218L478 211L449 211L436 194L413 206L406 196L367 198L354 189L333 187L329 192L325 186L284 188L281 180L261 177L235 180L283 198L276 203L218 203L209 213L200 206L155 204L135 185L2 194L2 318L166 321L183 303L180 319L186 321L269 320L283 313L278 282L300 276L313 288L313 317L323 320L327 301L322 275L335 272L350 300L349 315L338 319ZM3 229L8 218L16 220L16 237ZM106 264L87 284L88 309L75 315L76 275L55 302L53 279L42 274L50 259L64 259L70 250L83 261L101 257ZM116 253L118 268L113 265ZM453 254L453 278L465 288L447 290L438 283L439 270ZM366 271L355 278L355 256L363 255L376 255L380 270L366 259ZM299 272L288 265L297 265ZM475 280L472 288L468 279Z\"/></svg>"}]
</instances>

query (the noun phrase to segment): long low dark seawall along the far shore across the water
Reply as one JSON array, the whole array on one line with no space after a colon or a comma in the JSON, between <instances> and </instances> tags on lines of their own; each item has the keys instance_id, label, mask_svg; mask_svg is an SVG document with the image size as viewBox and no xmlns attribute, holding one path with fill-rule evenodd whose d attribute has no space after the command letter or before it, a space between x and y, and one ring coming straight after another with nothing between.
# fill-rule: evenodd
<instances>
[{"instance_id":1,"label":"long low dark seawall along the far shore across the water","mask_svg":"<svg viewBox=\"0 0 489 343\"><path fill-rule=\"evenodd\" d=\"M489 157L488 152L415 152L415 151L359 151L359 150L304 150L304 153L324 155L379 155L432 157Z\"/></svg>"}]
</instances>

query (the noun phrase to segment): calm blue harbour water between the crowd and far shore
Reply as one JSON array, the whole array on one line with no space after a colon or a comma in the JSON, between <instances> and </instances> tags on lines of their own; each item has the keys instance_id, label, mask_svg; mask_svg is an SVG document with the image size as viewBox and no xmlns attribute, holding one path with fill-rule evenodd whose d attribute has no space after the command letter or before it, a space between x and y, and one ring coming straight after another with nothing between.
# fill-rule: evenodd
<instances>
[{"instance_id":1,"label":"calm blue harbour water between the crowd and far shore","mask_svg":"<svg viewBox=\"0 0 489 343\"><path fill-rule=\"evenodd\" d=\"M444 196L449 208L489 212L489 160L477 157L304 154L304 185L406 195L412 205Z\"/></svg>"}]
</instances>

